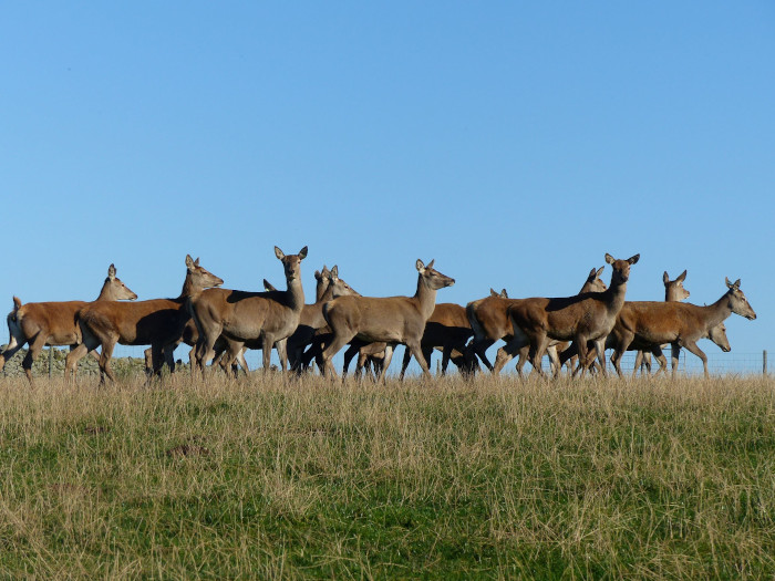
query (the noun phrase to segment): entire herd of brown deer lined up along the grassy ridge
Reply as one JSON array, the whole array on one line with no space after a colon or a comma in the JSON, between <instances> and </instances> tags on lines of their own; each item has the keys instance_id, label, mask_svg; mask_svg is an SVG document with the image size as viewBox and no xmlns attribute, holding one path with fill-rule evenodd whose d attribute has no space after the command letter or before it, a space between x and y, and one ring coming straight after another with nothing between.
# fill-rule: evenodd
<instances>
[{"instance_id":1,"label":"entire herd of brown deer lined up along the grassy ridge","mask_svg":"<svg viewBox=\"0 0 775 581\"><path fill-rule=\"evenodd\" d=\"M466 376L479 369L480 361L492 373L499 373L515 356L521 376L526 362L544 376L541 359L548 354L552 375L564 365L574 375L606 372L606 350L621 376L621 357L638 351L634 376L651 355L659 372L666 374L662 345L672 349L672 373L678 369L681 347L703 362L707 357L696 345L710 339L730 351L724 320L732 313L756 319L756 313L740 289L726 279L726 291L713 304L699 307L681 302L689 298L683 288L686 271L675 280L664 273L665 301L626 301L630 269L639 255L616 259L610 284L600 279L603 268L592 269L578 294L562 298L509 299L506 291L469 302L466 307L436 303L436 292L455 280L417 260L417 290L412 297L362 297L339 278L338 267L316 271L316 300L304 302L301 262L307 247L297 255L285 255L275 247L282 263L286 290L277 290L265 280L265 291L238 291L220 288L224 281L186 257L183 290L175 299L135 301L137 295L118 278L113 264L93 302L27 303L14 297L8 314L10 341L2 351L0 370L22 346L29 349L22 367L31 385L32 363L44 345L69 345L65 377L74 378L78 362L84 355L97 357L102 381L115 381L111 357L116 343L149 345L146 351L148 378L159 376L166 363L175 371L175 347L186 343L190 351L192 373L208 373L208 363L218 362L227 373L247 372L246 349L262 350L264 371L270 370L271 350L277 351L280 369L293 373L309 370L314 361L323 376L334 378L332 357L345 345L343 375L358 355L355 375L373 367L378 381L385 372L396 345L405 345L401 378L414 356L425 377L434 350L442 352L442 373L452 361ZM131 301L131 302L122 302ZM485 351L497 341L493 365ZM100 353L97 355L97 349ZM574 362L576 362L574 364Z\"/></svg>"}]
</instances>

